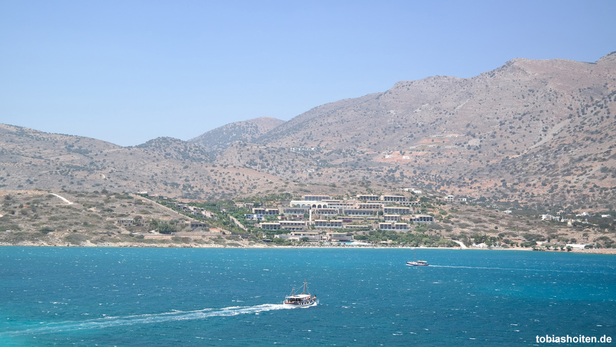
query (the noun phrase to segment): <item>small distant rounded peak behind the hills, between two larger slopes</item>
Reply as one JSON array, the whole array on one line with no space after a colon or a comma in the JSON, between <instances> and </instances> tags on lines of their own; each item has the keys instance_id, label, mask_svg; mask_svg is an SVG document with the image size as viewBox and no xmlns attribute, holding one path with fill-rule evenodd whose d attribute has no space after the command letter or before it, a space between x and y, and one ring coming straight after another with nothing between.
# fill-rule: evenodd
<instances>
[{"instance_id":1,"label":"small distant rounded peak behind the hills, between two larger slopes","mask_svg":"<svg viewBox=\"0 0 616 347\"><path fill-rule=\"evenodd\" d=\"M235 141L254 142L268 131L285 123L272 117L259 117L252 120L237 121L201 134L188 140L201 145L209 152L221 152Z\"/></svg>"}]
</instances>

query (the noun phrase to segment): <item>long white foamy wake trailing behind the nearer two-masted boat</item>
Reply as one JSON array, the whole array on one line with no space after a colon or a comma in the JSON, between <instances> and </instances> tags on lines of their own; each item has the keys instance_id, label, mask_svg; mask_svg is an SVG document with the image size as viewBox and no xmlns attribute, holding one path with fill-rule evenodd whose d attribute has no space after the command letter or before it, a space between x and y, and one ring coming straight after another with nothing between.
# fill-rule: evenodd
<instances>
[{"instance_id":1,"label":"long white foamy wake trailing behind the nearer two-masted boat","mask_svg":"<svg viewBox=\"0 0 616 347\"><path fill-rule=\"evenodd\" d=\"M262 304L256 306L232 306L221 309L199 309L196 311L172 311L158 314L139 314L135 316L126 317L105 317L99 319L90 319L78 321L67 321L58 323L47 323L37 325L30 329L2 332L0 333L0 340L2 335L33 335L44 333L58 333L67 332L82 329L99 329L107 327L119 327L121 325L134 325L134 324L152 324L160 322L171 322L174 320L195 320L206 319L209 317L229 317L237 316L238 314L258 314L259 312L274 311L278 309L292 309L293 307L285 306L283 304Z\"/></svg>"}]
</instances>

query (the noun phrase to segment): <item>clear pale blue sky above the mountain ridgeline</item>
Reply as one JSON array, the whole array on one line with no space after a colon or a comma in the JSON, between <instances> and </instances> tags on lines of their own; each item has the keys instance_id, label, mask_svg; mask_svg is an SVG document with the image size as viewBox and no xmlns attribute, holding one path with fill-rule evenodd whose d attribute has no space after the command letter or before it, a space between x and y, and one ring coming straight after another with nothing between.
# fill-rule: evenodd
<instances>
[{"instance_id":1,"label":"clear pale blue sky above the mountain ridgeline","mask_svg":"<svg viewBox=\"0 0 616 347\"><path fill-rule=\"evenodd\" d=\"M616 1L0 0L0 123L137 145L507 60L616 51Z\"/></svg>"}]
</instances>

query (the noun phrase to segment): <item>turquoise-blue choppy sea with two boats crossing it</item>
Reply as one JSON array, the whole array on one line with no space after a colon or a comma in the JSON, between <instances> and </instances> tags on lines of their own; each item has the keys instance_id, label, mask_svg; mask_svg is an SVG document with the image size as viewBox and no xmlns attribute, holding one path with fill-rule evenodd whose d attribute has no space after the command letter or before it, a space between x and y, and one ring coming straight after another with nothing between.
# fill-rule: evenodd
<instances>
[{"instance_id":1,"label":"turquoise-blue choppy sea with two boats crossing it","mask_svg":"<svg viewBox=\"0 0 616 347\"><path fill-rule=\"evenodd\" d=\"M616 338L616 257L0 247L2 346L492 346ZM306 278L318 306L284 308ZM566 345L566 344L564 344Z\"/></svg>"}]
</instances>

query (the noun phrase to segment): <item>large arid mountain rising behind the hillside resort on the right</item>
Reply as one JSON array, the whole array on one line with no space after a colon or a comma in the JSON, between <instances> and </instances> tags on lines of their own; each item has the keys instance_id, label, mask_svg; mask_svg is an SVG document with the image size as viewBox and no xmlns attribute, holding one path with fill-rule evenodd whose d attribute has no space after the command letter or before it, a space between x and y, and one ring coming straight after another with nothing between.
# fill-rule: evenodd
<instances>
[{"instance_id":1,"label":"large arid mountain rising behind the hillside resort on the right","mask_svg":"<svg viewBox=\"0 0 616 347\"><path fill-rule=\"evenodd\" d=\"M611 206L614 102L614 52L594 63L513 59L315 107L217 161L320 184Z\"/></svg>"}]
</instances>

